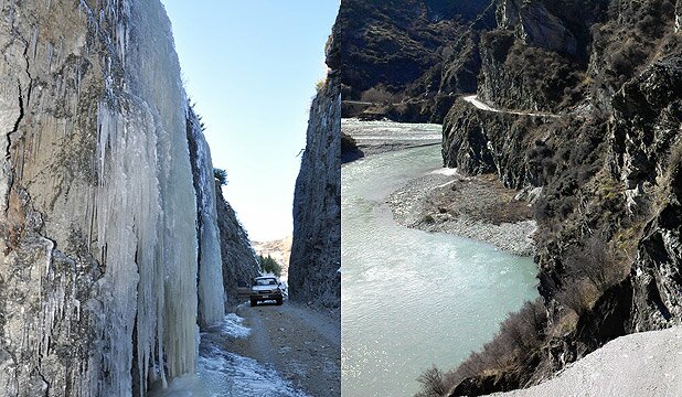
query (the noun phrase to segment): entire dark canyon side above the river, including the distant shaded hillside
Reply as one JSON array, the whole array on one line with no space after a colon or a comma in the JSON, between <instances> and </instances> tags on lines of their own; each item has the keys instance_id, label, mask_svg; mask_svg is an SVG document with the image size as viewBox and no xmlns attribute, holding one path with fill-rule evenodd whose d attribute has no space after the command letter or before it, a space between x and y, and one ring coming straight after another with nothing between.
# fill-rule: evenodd
<instances>
[{"instance_id":1,"label":"entire dark canyon side above the river, including the distant shaded hillside","mask_svg":"<svg viewBox=\"0 0 682 397\"><path fill-rule=\"evenodd\" d=\"M444 165L531 197L542 299L420 396L533 385L679 324L682 2L444 3L342 2L343 99L374 103L343 115L443 120Z\"/></svg>"}]
</instances>

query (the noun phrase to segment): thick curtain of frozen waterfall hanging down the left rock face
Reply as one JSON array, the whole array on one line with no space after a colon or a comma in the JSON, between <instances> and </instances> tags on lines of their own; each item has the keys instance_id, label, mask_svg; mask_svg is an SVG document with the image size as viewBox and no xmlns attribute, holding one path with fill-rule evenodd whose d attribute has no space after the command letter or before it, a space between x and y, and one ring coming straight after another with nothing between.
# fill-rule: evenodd
<instances>
[{"instance_id":1,"label":"thick curtain of frozen waterfall hanging down the left rock face","mask_svg":"<svg viewBox=\"0 0 682 397\"><path fill-rule=\"evenodd\" d=\"M224 315L222 261L211 158L201 129L190 128L196 120L187 106L170 22L158 1L110 3L118 55L110 62L125 62L127 72L122 90L111 85L97 118L94 211L106 267L99 288L108 348L88 371L96 395L127 396L135 364L142 396L148 380L166 384L195 371L198 313L202 324ZM205 191L199 193L188 129L202 142L196 186ZM108 374L105 383L95 383L102 373Z\"/></svg>"}]
</instances>

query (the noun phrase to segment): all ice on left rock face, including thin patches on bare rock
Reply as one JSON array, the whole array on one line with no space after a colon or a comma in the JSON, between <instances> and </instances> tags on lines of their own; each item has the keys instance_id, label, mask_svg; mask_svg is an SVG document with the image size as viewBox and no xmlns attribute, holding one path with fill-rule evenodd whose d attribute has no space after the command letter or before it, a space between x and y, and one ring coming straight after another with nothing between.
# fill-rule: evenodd
<instances>
[{"instance_id":1,"label":"all ice on left rock face, including thin patches on bare rock","mask_svg":"<svg viewBox=\"0 0 682 397\"><path fill-rule=\"evenodd\" d=\"M102 71L102 98L96 107L81 103L81 85L87 83L85 72L76 66L71 69L75 76L64 73L50 87L51 96L66 101L66 110L55 117L47 104L33 124L41 125L46 133L42 138L52 142L60 136L64 140L73 136L73 115L77 115L78 126L86 119L96 120L97 130L92 131L96 132L96 152L89 163L97 181L73 200L86 201L84 214L78 215L83 216L81 232L103 275L92 287L92 297L81 302L71 289L76 279L67 276L75 277L76 271L60 273L61 262L41 262L33 271L41 271L45 278L41 288L45 288L47 299L40 316L24 315L28 324L43 332L36 336L26 331L22 343L36 345L42 356L53 354L52 333L60 319L81 319L84 310L83 318L97 337L88 361L74 368L82 375L77 380L82 390L74 394L126 397L131 395L134 377L140 378L140 394L145 395L149 379L158 377L167 384L195 371L199 297L203 324L217 322L224 314L222 260L211 155L199 121L187 108L177 54L168 51L173 43L162 6L158 1L125 0L89 1L93 3L96 6L90 8L79 0L72 12L87 18L84 53L89 45L105 49L90 60L95 64L99 60L99 67L90 71ZM50 9L51 0L44 4ZM41 40L38 29L32 33L28 54L41 60L36 65L50 72L63 68L71 55L64 41L54 39L52 43L44 34ZM7 90L9 83L13 84L0 81L0 89ZM40 101L42 106L44 100ZM87 116L78 114L86 108ZM199 142L196 189L192 183L188 117ZM23 172L24 154L40 154L41 135L36 132L24 143L26 147L15 148L18 153L12 157L18 173ZM68 175L55 175L60 178L66 180ZM45 189L56 183L49 181ZM71 334L71 324L62 324L66 328L60 328L60 332ZM134 361L138 365L135 368Z\"/></svg>"}]
</instances>

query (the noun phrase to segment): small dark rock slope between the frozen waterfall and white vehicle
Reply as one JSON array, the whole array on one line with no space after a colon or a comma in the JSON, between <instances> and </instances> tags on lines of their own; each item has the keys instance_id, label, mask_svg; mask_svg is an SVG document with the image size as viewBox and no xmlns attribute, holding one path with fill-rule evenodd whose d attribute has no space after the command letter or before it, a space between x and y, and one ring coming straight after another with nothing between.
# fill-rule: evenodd
<instances>
[{"instance_id":1,"label":"small dark rock slope between the frozen waterfall and white vehicle","mask_svg":"<svg viewBox=\"0 0 682 397\"><path fill-rule=\"evenodd\" d=\"M248 235L227 201L223 197L220 182L215 183L217 226L221 233L221 255L223 258L223 285L225 299L230 303L237 302L239 282L251 286L251 280L260 273L260 265L256 259Z\"/></svg>"}]
</instances>

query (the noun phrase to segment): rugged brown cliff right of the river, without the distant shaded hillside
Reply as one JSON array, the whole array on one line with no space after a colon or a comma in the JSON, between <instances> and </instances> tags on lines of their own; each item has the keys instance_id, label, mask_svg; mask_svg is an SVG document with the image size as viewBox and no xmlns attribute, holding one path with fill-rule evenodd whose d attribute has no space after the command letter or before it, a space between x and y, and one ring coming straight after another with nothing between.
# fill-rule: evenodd
<instances>
[{"instance_id":1,"label":"rugged brown cliff right of the river, without the distant shaded hillside","mask_svg":"<svg viewBox=\"0 0 682 397\"><path fill-rule=\"evenodd\" d=\"M444 161L542 190L535 260L547 320L523 344L503 326L451 373L450 395L532 385L614 337L682 322L679 6L497 2L478 96L503 111L456 103ZM494 363L501 344L526 353Z\"/></svg>"}]
</instances>

